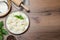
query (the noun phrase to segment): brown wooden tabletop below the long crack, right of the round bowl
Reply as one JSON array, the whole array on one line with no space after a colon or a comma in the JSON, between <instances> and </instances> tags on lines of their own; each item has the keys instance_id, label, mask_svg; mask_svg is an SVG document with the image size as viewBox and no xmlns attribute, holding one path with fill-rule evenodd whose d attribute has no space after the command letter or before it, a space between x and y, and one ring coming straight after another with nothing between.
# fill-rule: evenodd
<instances>
[{"instance_id":1,"label":"brown wooden tabletop below the long crack, right of the round bowl","mask_svg":"<svg viewBox=\"0 0 60 40\"><path fill-rule=\"evenodd\" d=\"M18 36L19 40L60 40L59 13L55 12L50 16L42 16L40 14L28 14L31 24L30 28L25 34Z\"/></svg>"}]
</instances>

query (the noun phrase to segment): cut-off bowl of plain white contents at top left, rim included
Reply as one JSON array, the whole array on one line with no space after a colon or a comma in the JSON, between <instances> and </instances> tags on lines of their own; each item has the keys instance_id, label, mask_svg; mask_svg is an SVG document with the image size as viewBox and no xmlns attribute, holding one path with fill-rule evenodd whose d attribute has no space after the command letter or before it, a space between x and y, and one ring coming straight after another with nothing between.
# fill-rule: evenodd
<instances>
[{"instance_id":1,"label":"cut-off bowl of plain white contents at top left, rim included","mask_svg":"<svg viewBox=\"0 0 60 40\"><path fill-rule=\"evenodd\" d=\"M11 0L0 0L0 17L8 14L11 7Z\"/></svg>"}]
</instances>

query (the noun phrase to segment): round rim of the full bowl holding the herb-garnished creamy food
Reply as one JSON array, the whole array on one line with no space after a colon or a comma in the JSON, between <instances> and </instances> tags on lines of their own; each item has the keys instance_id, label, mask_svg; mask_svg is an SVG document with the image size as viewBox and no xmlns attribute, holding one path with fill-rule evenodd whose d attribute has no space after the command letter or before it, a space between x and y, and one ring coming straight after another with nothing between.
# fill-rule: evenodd
<instances>
[{"instance_id":1,"label":"round rim of the full bowl holding the herb-garnished creamy food","mask_svg":"<svg viewBox=\"0 0 60 40\"><path fill-rule=\"evenodd\" d=\"M30 19L29 19L29 16L28 16L26 13L24 13L23 11L13 11L13 12L22 12L23 14L25 14L25 15L27 16L27 18L28 18L28 21L29 21L28 27L27 27L26 30L23 31L22 33L16 34L16 33L10 32L10 30L7 28L7 24L6 24L7 19L8 19L8 16L9 16L9 15L8 15L7 18L6 18L6 20L5 20L5 28L8 30L8 32L10 32L11 34L14 34L14 35L21 35L21 34L24 34L25 32L28 31L28 29L29 29L29 27L30 27ZM11 12L11 13L13 13L13 12Z\"/></svg>"}]
</instances>

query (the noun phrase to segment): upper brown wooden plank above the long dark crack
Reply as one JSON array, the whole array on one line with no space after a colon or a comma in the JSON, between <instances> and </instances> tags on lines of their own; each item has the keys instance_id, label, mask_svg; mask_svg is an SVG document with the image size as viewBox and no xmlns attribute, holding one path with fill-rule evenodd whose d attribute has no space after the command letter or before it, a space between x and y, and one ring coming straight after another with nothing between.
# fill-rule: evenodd
<instances>
[{"instance_id":1,"label":"upper brown wooden plank above the long dark crack","mask_svg":"<svg viewBox=\"0 0 60 40\"><path fill-rule=\"evenodd\" d=\"M56 10L60 8L60 0L30 0L31 12Z\"/></svg>"}]
</instances>

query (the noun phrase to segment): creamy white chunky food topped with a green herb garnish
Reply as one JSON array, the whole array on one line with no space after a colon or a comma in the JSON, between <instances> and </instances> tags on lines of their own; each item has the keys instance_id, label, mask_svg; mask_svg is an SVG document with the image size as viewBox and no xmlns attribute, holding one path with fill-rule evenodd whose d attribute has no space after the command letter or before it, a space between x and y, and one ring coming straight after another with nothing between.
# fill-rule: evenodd
<instances>
[{"instance_id":1,"label":"creamy white chunky food topped with a green herb garnish","mask_svg":"<svg viewBox=\"0 0 60 40\"><path fill-rule=\"evenodd\" d=\"M21 34L29 27L29 18L24 12L12 12L6 19L6 28L13 34Z\"/></svg>"}]
</instances>

